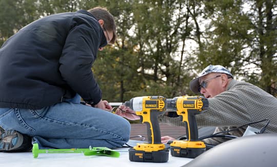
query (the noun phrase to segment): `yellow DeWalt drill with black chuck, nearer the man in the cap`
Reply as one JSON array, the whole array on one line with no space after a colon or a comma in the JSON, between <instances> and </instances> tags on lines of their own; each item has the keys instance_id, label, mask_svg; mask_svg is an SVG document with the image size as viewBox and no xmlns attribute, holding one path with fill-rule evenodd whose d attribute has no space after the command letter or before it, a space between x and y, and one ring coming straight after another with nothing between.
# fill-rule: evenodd
<instances>
[{"instance_id":1,"label":"yellow DeWalt drill with black chuck, nearer the man in the cap","mask_svg":"<svg viewBox=\"0 0 277 167\"><path fill-rule=\"evenodd\" d=\"M167 99L167 110L176 111L181 121L186 123L186 140L173 140L170 144L172 156L195 158L206 150L203 141L198 140L195 115L209 107L209 102L202 96L182 96Z\"/></svg>"}]
</instances>

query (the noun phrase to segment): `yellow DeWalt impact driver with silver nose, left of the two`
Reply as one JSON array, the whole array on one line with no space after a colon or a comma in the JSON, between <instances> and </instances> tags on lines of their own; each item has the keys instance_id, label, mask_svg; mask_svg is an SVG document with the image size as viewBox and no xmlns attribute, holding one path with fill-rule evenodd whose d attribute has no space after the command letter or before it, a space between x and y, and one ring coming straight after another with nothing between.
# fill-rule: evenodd
<instances>
[{"instance_id":1,"label":"yellow DeWalt impact driver with silver nose, left of the two","mask_svg":"<svg viewBox=\"0 0 277 167\"><path fill-rule=\"evenodd\" d=\"M161 142L161 131L157 116L166 110L166 99L162 96L144 96L132 98L124 103L141 117L147 125L148 143L137 144L129 149L130 161L167 162L169 149Z\"/></svg>"}]
</instances>

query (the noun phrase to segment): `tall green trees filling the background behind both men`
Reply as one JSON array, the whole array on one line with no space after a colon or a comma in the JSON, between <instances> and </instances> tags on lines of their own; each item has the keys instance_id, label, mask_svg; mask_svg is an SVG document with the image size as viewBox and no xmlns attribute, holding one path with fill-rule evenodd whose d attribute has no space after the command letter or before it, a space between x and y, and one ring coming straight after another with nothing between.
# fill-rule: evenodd
<instances>
[{"instance_id":1,"label":"tall green trees filling the background behind both men","mask_svg":"<svg viewBox=\"0 0 277 167\"><path fill-rule=\"evenodd\" d=\"M92 67L110 102L194 95L189 81L209 64L277 96L276 1L1 0L0 44L35 19L96 6L117 25Z\"/></svg>"}]
</instances>

